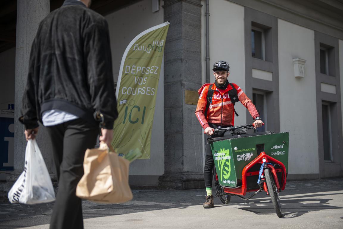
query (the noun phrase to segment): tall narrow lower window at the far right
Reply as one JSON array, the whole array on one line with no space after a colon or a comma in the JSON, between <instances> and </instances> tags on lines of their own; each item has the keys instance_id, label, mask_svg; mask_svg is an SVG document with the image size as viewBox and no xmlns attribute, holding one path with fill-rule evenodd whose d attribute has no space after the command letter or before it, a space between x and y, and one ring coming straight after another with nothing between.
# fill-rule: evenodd
<instances>
[{"instance_id":1,"label":"tall narrow lower window at the far right","mask_svg":"<svg viewBox=\"0 0 343 229\"><path fill-rule=\"evenodd\" d=\"M324 161L332 161L330 104L322 103Z\"/></svg>"}]
</instances>

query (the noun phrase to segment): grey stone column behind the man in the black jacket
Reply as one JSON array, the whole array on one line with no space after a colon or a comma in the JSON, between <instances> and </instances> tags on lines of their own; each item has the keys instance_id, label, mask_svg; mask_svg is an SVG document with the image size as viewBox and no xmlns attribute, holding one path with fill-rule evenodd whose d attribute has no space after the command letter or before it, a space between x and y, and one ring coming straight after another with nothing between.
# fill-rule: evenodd
<instances>
[{"instance_id":1,"label":"grey stone column behind the man in the black jacket","mask_svg":"<svg viewBox=\"0 0 343 229\"><path fill-rule=\"evenodd\" d=\"M10 181L16 179L23 171L26 140L21 116L23 92L26 86L29 56L38 24L50 13L49 0L17 0L16 47L15 47L15 112L14 112L14 174ZM42 151L48 170L52 168L50 140L42 126L39 128L37 142Z\"/></svg>"}]
</instances>

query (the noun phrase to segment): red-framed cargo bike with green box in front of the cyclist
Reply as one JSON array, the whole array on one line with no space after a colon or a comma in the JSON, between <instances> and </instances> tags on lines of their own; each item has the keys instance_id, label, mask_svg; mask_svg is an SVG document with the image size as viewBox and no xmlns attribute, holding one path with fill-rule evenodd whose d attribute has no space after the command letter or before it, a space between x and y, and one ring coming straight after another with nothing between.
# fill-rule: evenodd
<instances>
[{"instance_id":1,"label":"red-framed cargo bike with green box in front of the cyclist","mask_svg":"<svg viewBox=\"0 0 343 229\"><path fill-rule=\"evenodd\" d=\"M226 131L226 136L213 137L221 131ZM207 143L211 144L215 164L215 197L228 204L231 196L248 200L265 191L281 218L279 192L286 185L288 139L288 132L256 133L250 124L214 129L214 135L207 139ZM245 198L247 192L253 193Z\"/></svg>"}]
</instances>

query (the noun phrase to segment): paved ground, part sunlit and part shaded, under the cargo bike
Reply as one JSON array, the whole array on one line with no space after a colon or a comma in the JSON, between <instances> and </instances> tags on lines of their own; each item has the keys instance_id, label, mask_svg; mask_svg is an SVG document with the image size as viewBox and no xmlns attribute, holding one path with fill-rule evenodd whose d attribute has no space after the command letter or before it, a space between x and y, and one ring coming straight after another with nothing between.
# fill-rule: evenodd
<instances>
[{"instance_id":1,"label":"paved ground, part sunlit and part shaded, under the cargo bike","mask_svg":"<svg viewBox=\"0 0 343 229\"><path fill-rule=\"evenodd\" d=\"M133 190L124 204L83 201L87 228L343 228L343 178L290 181L280 193L284 218L278 218L269 196L248 202L215 199L203 209L204 190ZM0 198L0 228L49 228L53 204L9 204Z\"/></svg>"}]
</instances>

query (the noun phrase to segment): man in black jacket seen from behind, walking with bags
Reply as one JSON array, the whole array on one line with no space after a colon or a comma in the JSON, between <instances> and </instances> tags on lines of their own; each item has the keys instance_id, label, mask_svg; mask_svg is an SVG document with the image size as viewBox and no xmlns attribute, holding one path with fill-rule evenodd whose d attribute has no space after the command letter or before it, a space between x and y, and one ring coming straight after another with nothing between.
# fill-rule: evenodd
<instances>
[{"instance_id":1,"label":"man in black jacket seen from behind, walking with bags","mask_svg":"<svg viewBox=\"0 0 343 229\"><path fill-rule=\"evenodd\" d=\"M52 142L58 193L50 228L83 228L76 185L83 158L100 141L111 144L118 116L108 25L92 10L91 0L66 0L40 22L33 41L20 122L26 140L34 139L38 121Z\"/></svg>"}]
</instances>

